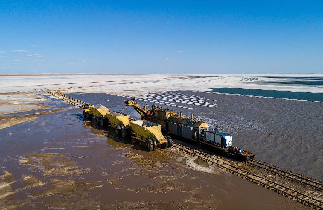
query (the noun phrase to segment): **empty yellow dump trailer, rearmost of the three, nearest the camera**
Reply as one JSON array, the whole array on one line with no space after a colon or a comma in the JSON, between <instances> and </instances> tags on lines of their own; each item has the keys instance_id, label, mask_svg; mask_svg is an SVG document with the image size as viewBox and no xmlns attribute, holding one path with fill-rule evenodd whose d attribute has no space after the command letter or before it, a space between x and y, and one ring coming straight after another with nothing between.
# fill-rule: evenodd
<instances>
[{"instance_id":1,"label":"empty yellow dump trailer, rearmost of the three, nearest the camera","mask_svg":"<svg viewBox=\"0 0 323 210\"><path fill-rule=\"evenodd\" d=\"M153 151L157 149L157 145L161 145L161 148L169 148L172 146L172 138L170 136L163 136L161 133L161 125L146 121L136 120L130 121L130 128L122 129L127 131L131 129L137 137L145 140L145 149L147 151Z\"/></svg>"}]
</instances>

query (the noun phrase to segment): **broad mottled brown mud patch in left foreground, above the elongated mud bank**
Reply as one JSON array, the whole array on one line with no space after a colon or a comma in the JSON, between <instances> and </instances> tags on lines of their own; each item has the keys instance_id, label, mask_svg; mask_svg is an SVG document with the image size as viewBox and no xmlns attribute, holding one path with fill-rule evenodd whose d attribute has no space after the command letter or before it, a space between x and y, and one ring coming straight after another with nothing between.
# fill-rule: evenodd
<instances>
[{"instance_id":1,"label":"broad mottled brown mud patch in left foreground, above the elongated mud bank","mask_svg":"<svg viewBox=\"0 0 323 210\"><path fill-rule=\"evenodd\" d=\"M54 158L56 157L56 159ZM67 159L68 155L64 153L29 153L20 159L21 164L27 164L30 166L34 166L31 168L33 171L35 169L44 170L45 174L49 175L67 175L71 173L80 174L82 172L81 169L75 169L75 161L69 161ZM75 169L75 170L71 170Z\"/></svg>"}]
</instances>

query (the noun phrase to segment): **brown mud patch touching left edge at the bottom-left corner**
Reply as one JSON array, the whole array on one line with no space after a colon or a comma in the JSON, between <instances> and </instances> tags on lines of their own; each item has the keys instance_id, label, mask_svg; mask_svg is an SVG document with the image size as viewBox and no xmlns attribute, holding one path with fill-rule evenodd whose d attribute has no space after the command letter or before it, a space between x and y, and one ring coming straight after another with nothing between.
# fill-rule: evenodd
<instances>
[{"instance_id":1,"label":"brown mud patch touching left edge at the bottom-left corner","mask_svg":"<svg viewBox=\"0 0 323 210\"><path fill-rule=\"evenodd\" d=\"M25 201L17 201L14 197L15 190L12 189L12 184L16 180L13 179L12 173L4 171L0 176L0 208L1 210L16 209L21 205L25 205Z\"/></svg>"}]
</instances>

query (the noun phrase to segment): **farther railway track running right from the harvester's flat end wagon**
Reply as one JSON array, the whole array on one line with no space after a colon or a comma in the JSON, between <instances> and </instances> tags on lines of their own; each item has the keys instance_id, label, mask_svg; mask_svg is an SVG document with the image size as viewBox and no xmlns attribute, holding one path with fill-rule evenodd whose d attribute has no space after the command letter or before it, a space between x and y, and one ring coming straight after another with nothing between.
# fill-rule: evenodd
<instances>
[{"instance_id":1,"label":"farther railway track running right from the harvester's flat end wagon","mask_svg":"<svg viewBox=\"0 0 323 210\"><path fill-rule=\"evenodd\" d=\"M302 183L305 186L309 186L309 187L311 187L313 189L316 189L316 190L319 190L319 191L323 192L323 188L322 188L322 184L321 183L319 183L317 181L313 181L313 180L307 179L305 177L302 177L302 176L300 176L300 174L297 175L297 173L296 174L290 173L290 172L287 172L285 170L279 169L278 167L274 167L274 166L271 166L271 165L265 164L265 163L260 163L260 162L255 161L255 160L245 160L245 162L248 163L248 164L251 164L253 167L261 168L262 170L265 170L267 172L274 173L274 174L278 174L279 176L283 176L284 178L286 178L288 180L291 180L291 181L294 181L294 182L298 182L298 183ZM254 162L254 163L252 163L252 162ZM263 166L259 166L257 164L261 164ZM268 168L272 168L272 169L268 169ZM283 173L285 173L285 174L283 174ZM289 174L291 176L297 177L299 179L290 177L290 176L288 176L286 174ZM305 181L302 181L302 180L305 180ZM315 186L312 183L317 184L319 186Z\"/></svg>"}]
</instances>

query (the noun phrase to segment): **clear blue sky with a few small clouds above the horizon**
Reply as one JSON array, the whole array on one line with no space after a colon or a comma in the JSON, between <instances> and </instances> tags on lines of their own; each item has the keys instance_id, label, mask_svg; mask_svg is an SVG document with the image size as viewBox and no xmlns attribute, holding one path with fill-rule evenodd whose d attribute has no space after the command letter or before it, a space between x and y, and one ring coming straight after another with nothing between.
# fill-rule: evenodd
<instances>
[{"instance_id":1,"label":"clear blue sky with a few small clouds above the horizon","mask_svg":"<svg viewBox=\"0 0 323 210\"><path fill-rule=\"evenodd\" d=\"M0 73L323 73L323 3L0 1Z\"/></svg>"}]
</instances>

